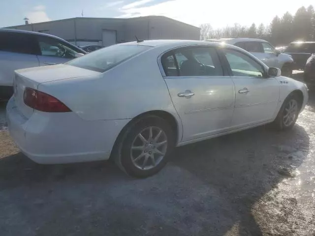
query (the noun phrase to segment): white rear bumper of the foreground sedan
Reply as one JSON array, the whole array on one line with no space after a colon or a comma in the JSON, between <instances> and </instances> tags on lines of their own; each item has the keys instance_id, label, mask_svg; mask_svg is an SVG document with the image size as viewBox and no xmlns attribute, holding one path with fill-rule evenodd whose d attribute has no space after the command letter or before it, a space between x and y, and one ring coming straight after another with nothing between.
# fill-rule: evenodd
<instances>
[{"instance_id":1,"label":"white rear bumper of the foreground sedan","mask_svg":"<svg viewBox=\"0 0 315 236\"><path fill-rule=\"evenodd\" d=\"M34 111L21 114L12 97L7 104L11 137L21 151L40 164L107 160L129 119L85 121L75 113Z\"/></svg>"}]
</instances>

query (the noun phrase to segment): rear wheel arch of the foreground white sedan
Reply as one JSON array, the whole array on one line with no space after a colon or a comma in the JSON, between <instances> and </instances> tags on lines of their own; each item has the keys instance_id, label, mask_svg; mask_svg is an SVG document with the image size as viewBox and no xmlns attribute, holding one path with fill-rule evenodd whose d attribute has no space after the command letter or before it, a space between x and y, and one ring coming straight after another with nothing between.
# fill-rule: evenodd
<instances>
[{"instance_id":1,"label":"rear wheel arch of the foreground white sedan","mask_svg":"<svg viewBox=\"0 0 315 236\"><path fill-rule=\"evenodd\" d=\"M135 123L139 122L141 119L148 117L150 115L166 120L172 127L172 130L173 130L175 137L176 137L176 143L178 143L180 141L180 139L182 138L183 126L182 126L181 120L179 118L177 119L171 113L163 111L163 110L153 110L153 111L144 112L144 113L141 113L138 116L132 118L124 126L124 128L120 131L120 133L118 134L118 136L116 138L114 146L112 148L110 159L113 159L115 153L117 153L117 150L119 148L119 144L121 143L122 139L124 139L124 135L126 134L126 131L129 128L131 128Z\"/></svg>"}]
</instances>

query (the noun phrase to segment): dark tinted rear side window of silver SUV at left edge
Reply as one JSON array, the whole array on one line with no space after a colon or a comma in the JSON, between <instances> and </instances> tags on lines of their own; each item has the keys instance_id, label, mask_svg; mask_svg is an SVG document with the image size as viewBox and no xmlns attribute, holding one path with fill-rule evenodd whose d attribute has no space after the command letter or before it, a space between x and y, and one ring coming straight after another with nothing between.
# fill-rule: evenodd
<instances>
[{"instance_id":1,"label":"dark tinted rear side window of silver SUV at left edge","mask_svg":"<svg viewBox=\"0 0 315 236\"><path fill-rule=\"evenodd\" d=\"M0 51L36 55L38 47L32 34L0 32Z\"/></svg>"}]
</instances>

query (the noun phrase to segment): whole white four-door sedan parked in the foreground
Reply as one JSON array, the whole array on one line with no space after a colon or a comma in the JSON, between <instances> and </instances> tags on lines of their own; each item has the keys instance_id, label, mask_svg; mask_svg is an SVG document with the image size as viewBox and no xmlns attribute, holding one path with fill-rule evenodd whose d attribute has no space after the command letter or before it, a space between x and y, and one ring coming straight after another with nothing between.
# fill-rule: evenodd
<instances>
[{"instance_id":1,"label":"whole white four-door sedan parked in the foreground","mask_svg":"<svg viewBox=\"0 0 315 236\"><path fill-rule=\"evenodd\" d=\"M113 158L148 177L175 146L267 123L291 128L307 90L232 45L149 40L17 70L7 120L37 163Z\"/></svg>"}]
</instances>

